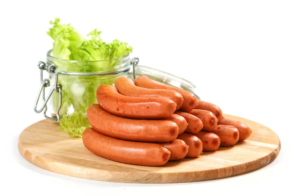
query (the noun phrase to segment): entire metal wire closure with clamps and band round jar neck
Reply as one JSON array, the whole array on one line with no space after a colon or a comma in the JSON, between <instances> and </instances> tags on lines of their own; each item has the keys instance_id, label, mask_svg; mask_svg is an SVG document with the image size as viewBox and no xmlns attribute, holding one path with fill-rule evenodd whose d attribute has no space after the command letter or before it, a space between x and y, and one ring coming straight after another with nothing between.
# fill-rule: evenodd
<instances>
[{"instance_id":1,"label":"entire metal wire closure with clamps and band round jar neck","mask_svg":"<svg viewBox=\"0 0 294 196\"><path fill-rule=\"evenodd\" d=\"M130 60L130 65L133 68L134 79L136 78L136 70L135 70L135 68L136 68L136 66L138 64L139 64L139 58L138 57L134 57L133 59ZM62 105L62 85L58 84L58 75L59 74L62 74L62 75L108 75L108 74L118 74L118 73L124 73L124 72L129 72L130 71L130 67L126 67L126 68L122 68L122 69L111 71L111 72L98 72L98 73L62 72L62 71L58 71L54 64L47 65L43 61L40 61L38 63L38 68L40 69L41 86L40 86L39 92L37 94L37 98L35 100L34 111L36 113L41 113L42 111L44 111L43 112L44 117L46 119L49 119L49 120L55 122L55 123L58 123L59 120L60 120L59 111L60 111L60 108L61 108L61 105ZM43 71L47 71L48 73L55 73L54 85L50 89L47 98L45 98L45 89L50 86L50 80L48 78L43 79ZM58 103L58 108L56 110L56 118L49 117L46 114L46 112L47 112L47 102L49 101L49 98L53 94L53 91L55 91L56 93L59 94L59 103ZM42 94L42 99L43 99L43 105L38 110L37 106L38 106L38 102L40 100L41 94Z\"/></svg>"}]
</instances>

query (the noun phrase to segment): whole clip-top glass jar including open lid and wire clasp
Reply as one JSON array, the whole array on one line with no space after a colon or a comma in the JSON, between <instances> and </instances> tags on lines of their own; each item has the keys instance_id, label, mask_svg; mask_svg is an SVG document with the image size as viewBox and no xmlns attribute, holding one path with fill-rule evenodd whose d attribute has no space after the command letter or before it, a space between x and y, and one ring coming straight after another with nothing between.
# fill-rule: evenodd
<instances>
[{"instance_id":1,"label":"whole clip-top glass jar including open lid and wire clasp","mask_svg":"<svg viewBox=\"0 0 294 196\"><path fill-rule=\"evenodd\" d=\"M157 82L196 95L196 86L188 80L138 63L139 58L130 59L129 54L122 58L103 61L73 61L55 58L52 56L52 50L49 50L46 63L42 61L38 63L41 70L41 87L34 110L36 113L44 111L44 116L56 123L64 115L70 116L74 112L86 116L88 107L97 103L98 87L101 84L114 85L116 79L122 76L134 79L136 76L146 75ZM49 79L43 79L43 71L47 71ZM45 89L49 86L51 88L46 95ZM37 110L41 95L43 105ZM196 97L199 99L197 95Z\"/></svg>"}]
</instances>

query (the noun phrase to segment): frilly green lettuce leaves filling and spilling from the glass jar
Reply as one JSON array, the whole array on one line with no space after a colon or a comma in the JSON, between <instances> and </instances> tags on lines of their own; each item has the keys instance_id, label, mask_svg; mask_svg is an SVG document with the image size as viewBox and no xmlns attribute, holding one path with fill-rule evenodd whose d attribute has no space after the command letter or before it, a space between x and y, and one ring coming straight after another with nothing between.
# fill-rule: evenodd
<instances>
[{"instance_id":1,"label":"frilly green lettuce leaves filling and spilling from the glass jar","mask_svg":"<svg viewBox=\"0 0 294 196\"><path fill-rule=\"evenodd\" d=\"M105 72L112 71L121 63L121 57L131 53L133 48L127 43L114 39L105 43L101 31L95 28L83 37L70 24L60 24L60 19L50 21L47 34L53 39L52 56L57 70L64 72ZM64 60L68 61L64 61ZM116 59L116 60L110 60ZM102 62L97 62L105 60ZM90 105L97 103L96 90L101 84L113 85L118 76L70 76L59 75L58 83L62 85L62 105L59 116L60 130L69 135L81 137L86 127L91 127L86 113ZM52 95L53 109L59 104L59 95Z\"/></svg>"}]
</instances>

